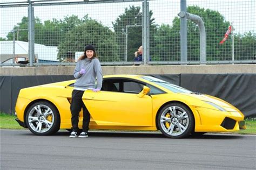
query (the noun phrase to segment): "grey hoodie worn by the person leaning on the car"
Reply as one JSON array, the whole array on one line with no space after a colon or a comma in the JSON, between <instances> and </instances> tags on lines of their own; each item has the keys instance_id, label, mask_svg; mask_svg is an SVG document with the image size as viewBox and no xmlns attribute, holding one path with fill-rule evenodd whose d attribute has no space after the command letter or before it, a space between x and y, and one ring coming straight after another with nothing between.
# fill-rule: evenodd
<instances>
[{"instance_id":1,"label":"grey hoodie worn by the person leaning on the car","mask_svg":"<svg viewBox=\"0 0 256 170\"><path fill-rule=\"evenodd\" d=\"M80 75L79 71L82 68L85 68L85 73ZM95 88L95 80L97 77L97 88L101 89L103 75L99 60L97 58L85 58L83 60L79 60L74 71L74 77L77 79L75 82L75 88Z\"/></svg>"}]
</instances>

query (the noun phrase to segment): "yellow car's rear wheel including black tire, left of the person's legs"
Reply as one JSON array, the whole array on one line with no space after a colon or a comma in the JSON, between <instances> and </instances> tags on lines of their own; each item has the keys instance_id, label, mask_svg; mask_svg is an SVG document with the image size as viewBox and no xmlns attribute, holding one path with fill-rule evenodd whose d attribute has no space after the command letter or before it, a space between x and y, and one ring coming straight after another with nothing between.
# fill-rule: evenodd
<instances>
[{"instance_id":1,"label":"yellow car's rear wheel including black tire, left of the person's legs","mask_svg":"<svg viewBox=\"0 0 256 170\"><path fill-rule=\"evenodd\" d=\"M46 101L32 104L25 117L29 130L39 136L55 134L60 127L60 116L56 107Z\"/></svg>"}]
</instances>

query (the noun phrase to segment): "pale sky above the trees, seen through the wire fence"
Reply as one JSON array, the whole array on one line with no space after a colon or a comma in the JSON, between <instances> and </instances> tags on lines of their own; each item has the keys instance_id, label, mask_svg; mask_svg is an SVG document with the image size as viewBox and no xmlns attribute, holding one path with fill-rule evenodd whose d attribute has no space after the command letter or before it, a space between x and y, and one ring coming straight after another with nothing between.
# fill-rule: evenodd
<instances>
[{"instance_id":1,"label":"pale sky above the trees, seen through the wire fence","mask_svg":"<svg viewBox=\"0 0 256 170\"><path fill-rule=\"evenodd\" d=\"M0 0L0 3L24 1L26 0ZM153 18L158 25L172 25L172 20L180 11L180 0L155 0L149 3ZM44 20L52 20L52 18L63 19L67 15L77 15L82 18L88 14L92 19L113 29L112 22L124 13L125 8L128 8L129 5L142 6L142 2L35 6L34 11L35 17L40 18L42 23ZM219 11L226 21L233 22L235 33L256 32L255 0L187 0L187 6L191 5ZM17 23L21 22L24 16L28 16L27 7L0 8L0 10L0 37L3 38Z\"/></svg>"}]
</instances>

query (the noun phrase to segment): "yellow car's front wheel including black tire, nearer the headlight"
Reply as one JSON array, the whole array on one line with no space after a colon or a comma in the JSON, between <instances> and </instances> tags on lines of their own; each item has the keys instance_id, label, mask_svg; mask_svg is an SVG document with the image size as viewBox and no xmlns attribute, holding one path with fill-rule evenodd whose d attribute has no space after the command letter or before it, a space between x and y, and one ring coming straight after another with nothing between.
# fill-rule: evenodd
<instances>
[{"instance_id":1,"label":"yellow car's front wheel including black tire, nearer the headlight","mask_svg":"<svg viewBox=\"0 0 256 170\"><path fill-rule=\"evenodd\" d=\"M185 104L169 103L159 111L157 123L166 137L185 138L193 132L194 116Z\"/></svg>"}]
</instances>

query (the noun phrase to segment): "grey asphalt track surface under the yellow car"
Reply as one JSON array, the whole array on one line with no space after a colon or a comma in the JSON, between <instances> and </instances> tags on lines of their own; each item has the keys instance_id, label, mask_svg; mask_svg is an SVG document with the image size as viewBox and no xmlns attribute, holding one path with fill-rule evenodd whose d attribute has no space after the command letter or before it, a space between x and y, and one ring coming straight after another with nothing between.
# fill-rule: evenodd
<instances>
[{"instance_id":1,"label":"grey asphalt track surface under the yellow car","mask_svg":"<svg viewBox=\"0 0 256 170\"><path fill-rule=\"evenodd\" d=\"M0 130L1 169L256 169L256 136L89 132L89 138Z\"/></svg>"}]
</instances>

